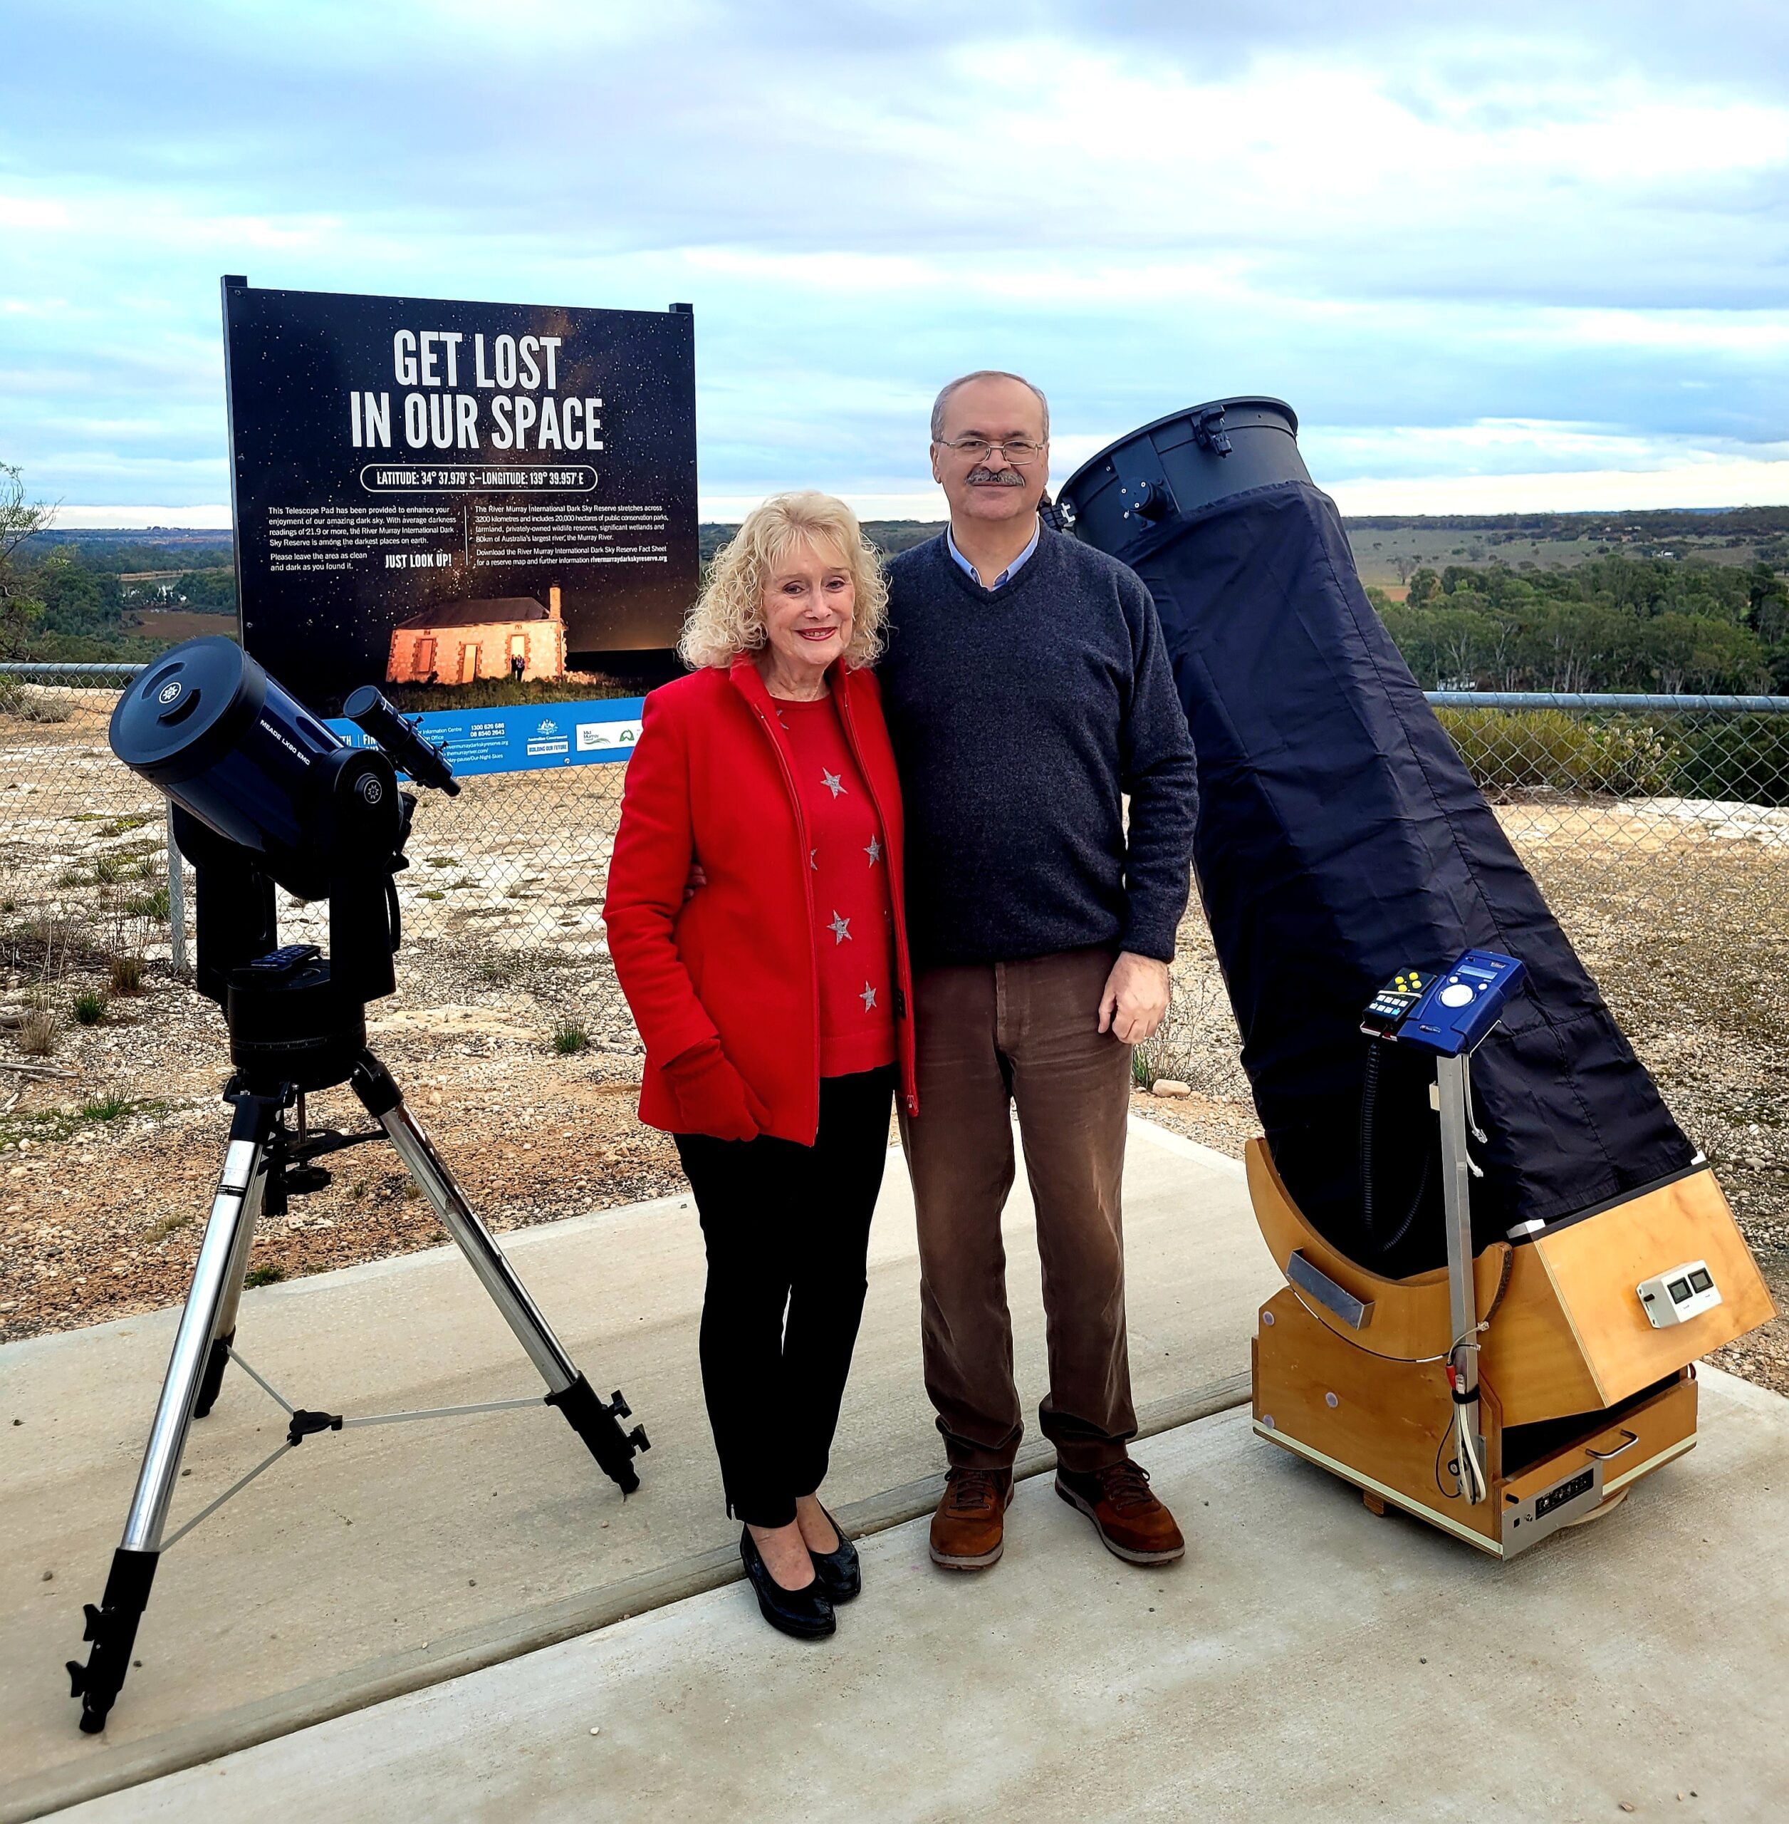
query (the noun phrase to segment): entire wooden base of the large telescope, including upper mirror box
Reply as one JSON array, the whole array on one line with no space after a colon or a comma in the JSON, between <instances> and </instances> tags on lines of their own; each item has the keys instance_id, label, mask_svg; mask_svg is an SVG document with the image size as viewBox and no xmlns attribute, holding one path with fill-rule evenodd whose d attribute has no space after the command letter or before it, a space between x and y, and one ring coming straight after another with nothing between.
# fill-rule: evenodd
<instances>
[{"instance_id":1,"label":"entire wooden base of the large telescope, including upper mirror box","mask_svg":"<svg viewBox=\"0 0 1789 1824\"><path fill-rule=\"evenodd\" d=\"M1488 1496L1461 1492L1446 1270L1391 1280L1331 1248L1266 1142L1249 1195L1287 1284L1255 1332L1255 1432L1497 1558L1588 1519L1696 1443L1696 1359L1774 1308L1707 1167L1474 1262ZM1707 1262L1720 1302L1654 1328L1638 1284Z\"/></svg>"}]
</instances>

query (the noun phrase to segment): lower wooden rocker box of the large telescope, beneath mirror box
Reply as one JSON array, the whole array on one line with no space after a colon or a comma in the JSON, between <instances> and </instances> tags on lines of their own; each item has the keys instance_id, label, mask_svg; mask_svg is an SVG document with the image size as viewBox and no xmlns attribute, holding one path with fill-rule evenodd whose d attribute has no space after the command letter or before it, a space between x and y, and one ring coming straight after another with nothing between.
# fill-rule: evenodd
<instances>
[{"instance_id":1,"label":"lower wooden rocker box of the large telescope, beneath mirror box","mask_svg":"<svg viewBox=\"0 0 1789 1824\"><path fill-rule=\"evenodd\" d=\"M1592 1518L1696 1443L1696 1370L1603 1412L1505 1426L1481 1383L1490 1494L1450 1474L1453 1403L1441 1363L1386 1361L1318 1324L1291 1286L1262 1306L1253 1344L1255 1434L1353 1483L1382 1514L1401 1507L1494 1558L1514 1558Z\"/></svg>"}]
</instances>

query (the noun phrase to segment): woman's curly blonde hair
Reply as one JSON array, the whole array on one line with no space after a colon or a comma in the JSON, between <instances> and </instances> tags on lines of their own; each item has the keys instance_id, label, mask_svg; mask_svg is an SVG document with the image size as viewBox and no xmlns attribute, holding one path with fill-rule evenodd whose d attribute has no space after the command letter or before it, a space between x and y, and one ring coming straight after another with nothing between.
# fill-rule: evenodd
<instances>
[{"instance_id":1,"label":"woman's curly blonde hair","mask_svg":"<svg viewBox=\"0 0 1789 1824\"><path fill-rule=\"evenodd\" d=\"M883 649L888 617L888 584L875 547L863 536L857 514L832 494L771 494L746 514L746 523L724 545L708 571L684 635L677 642L691 669L729 666L740 653L755 653L766 640L764 586L799 544L832 547L852 573L857 606L852 638L844 648L848 666L872 664Z\"/></svg>"}]
</instances>

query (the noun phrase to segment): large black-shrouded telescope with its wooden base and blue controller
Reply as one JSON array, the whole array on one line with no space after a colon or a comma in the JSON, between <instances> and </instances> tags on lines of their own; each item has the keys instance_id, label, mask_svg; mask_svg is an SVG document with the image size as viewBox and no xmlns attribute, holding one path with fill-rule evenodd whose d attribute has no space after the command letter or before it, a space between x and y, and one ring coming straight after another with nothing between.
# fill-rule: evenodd
<instances>
[{"instance_id":1,"label":"large black-shrouded telescope with its wooden base and blue controller","mask_svg":"<svg viewBox=\"0 0 1789 1824\"><path fill-rule=\"evenodd\" d=\"M1696 1441L1773 1315L1712 1169L1373 613L1278 399L1143 425L1058 514L1149 586L1286 1288L1255 1430L1508 1558Z\"/></svg>"}]
</instances>

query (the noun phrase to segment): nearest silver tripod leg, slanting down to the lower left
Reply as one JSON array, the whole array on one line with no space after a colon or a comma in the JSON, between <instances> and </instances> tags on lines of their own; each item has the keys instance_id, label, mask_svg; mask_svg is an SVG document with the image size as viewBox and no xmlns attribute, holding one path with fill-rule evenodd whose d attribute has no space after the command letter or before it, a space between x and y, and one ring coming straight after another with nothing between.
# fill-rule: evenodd
<instances>
[{"instance_id":1,"label":"nearest silver tripod leg, slanting down to the lower left","mask_svg":"<svg viewBox=\"0 0 1789 1824\"><path fill-rule=\"evenodd\" d=\"M168 1503L181 1474L193 1401L199 1395L212 1339L217 1335L217 1313L224 1302L230 1264L237 1257L237 1240L252 1207L268 1135L277 1118L279 1104L274 1100L243 1096L235 1105L224 1169L212 1198L212 1218L193 1266L193 1284L186 1293L181 1328L173 1337L173 1353L168 1357L168 1373L155 1404L150 1443L137 1472L137 1492L124 1519L124 1541L111 1554L111 1574L106 1578L100 1605L88 1603L86 1609L88 1631L82 1638L93 1643L93 1653L86 1665L80 1660L67 1662L71 1694L80 1698L80 1727L86 1735L98 1735L106 1727L106 1716L131 1663L137 1623L142 1620L150 1585L155 1581Z\"/></svg>"}]
</instances>

